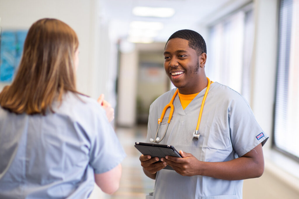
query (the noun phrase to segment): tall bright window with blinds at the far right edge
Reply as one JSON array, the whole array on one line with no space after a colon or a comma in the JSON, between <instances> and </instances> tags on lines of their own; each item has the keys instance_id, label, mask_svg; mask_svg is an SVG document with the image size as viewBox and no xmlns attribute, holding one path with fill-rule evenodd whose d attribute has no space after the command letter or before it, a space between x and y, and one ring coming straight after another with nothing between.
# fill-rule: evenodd
<instances>
[{"instance_id":1,"label":"tall bright window with blinds at the far right edge","mask_svg":"<svg viewBox=\"0 0 299 199\"><path fill-rule=\"evenodd\" d=\"M299 0L281 0L274 147L299 161Z\"/></svg>"}]
</instances>

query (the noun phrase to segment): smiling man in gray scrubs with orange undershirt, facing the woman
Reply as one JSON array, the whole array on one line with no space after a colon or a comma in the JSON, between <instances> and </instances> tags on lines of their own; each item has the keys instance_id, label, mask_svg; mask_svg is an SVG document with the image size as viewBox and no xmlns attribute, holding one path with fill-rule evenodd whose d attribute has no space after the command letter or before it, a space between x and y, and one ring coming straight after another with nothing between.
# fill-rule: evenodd
<instances>
[{"instance_id":1,"label":"smiling man in gray scrubs with orange undershirt, facing the woman","mask_svg":"<svg viewBox=\"0 0 299 199\"><path fill-rule=\"evenodd\" d=\"M173 145L182 158L140 156L144 173L155 179L147 198L242 198L243 179L263 174L262 146L267 136L257 123L246 100L228 86L210 82L199 125L199 139L193 131L199 119L209 79L205 75L205 41L192 30L179 30L168 39L164 69L178 88L174 112L166 135L159 144ZM174 96L172 89L150 106L148 143L154 143L158 119ZM167 126L170 108L161 118L159 136ZM173 170L163 169L169 165Z\"/></svg>"}]
</instances>

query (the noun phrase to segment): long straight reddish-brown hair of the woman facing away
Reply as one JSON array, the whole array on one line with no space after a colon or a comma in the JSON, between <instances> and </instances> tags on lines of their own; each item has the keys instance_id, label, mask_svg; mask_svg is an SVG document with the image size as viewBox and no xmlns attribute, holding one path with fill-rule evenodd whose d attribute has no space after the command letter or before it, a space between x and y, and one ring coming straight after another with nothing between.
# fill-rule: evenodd
<instances>
[{"instance_id":1,"label":"long straight reddish-brown hair of the woman facing away","mask_svg":"<svg viewBox=\"0 0 299 199\"><path fill-rule=\"evenodd\" d=\"M1 107L16 114L45 114L66 91L76 91L74 55L79 45L71 27L57 19L36 21L25 39L18 72L0 93Z\"/></svg>"}]
</instances>

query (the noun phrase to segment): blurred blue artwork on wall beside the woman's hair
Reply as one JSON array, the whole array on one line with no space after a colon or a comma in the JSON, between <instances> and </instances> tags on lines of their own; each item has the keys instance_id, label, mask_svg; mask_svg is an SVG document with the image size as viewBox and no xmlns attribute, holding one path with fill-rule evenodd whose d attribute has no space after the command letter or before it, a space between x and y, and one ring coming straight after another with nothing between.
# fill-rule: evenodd
<instances>
[{"instance_id":1,"label":"blurred blue artwork on wall beside the woman's hair","mask_svg":"<svg viewBox=\"0 0 299 199\"><path fill-rule=\"evenodd\" d=\"M27 30L3 31L0 37L0 82L11 82L23 52Z\"/></svg>"}]
</instances>

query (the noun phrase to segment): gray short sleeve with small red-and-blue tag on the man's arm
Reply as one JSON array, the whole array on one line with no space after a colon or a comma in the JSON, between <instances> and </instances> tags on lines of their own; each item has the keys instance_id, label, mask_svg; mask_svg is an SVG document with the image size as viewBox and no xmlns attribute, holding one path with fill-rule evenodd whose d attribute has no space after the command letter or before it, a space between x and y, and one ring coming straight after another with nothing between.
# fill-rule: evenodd
<instances>
[{"instance_id":1,"label":"gray short sleeve with small red-and-blue tag on the man's arm","mask_svg":"<svg viewBox=\"0 0 299 199\"><path fill-rule=\"evenodd\" d=\"M228 108L231 142L239 157L269 138L257 123L246 100L237 92Z\"/></svg>"}]
</instances>

